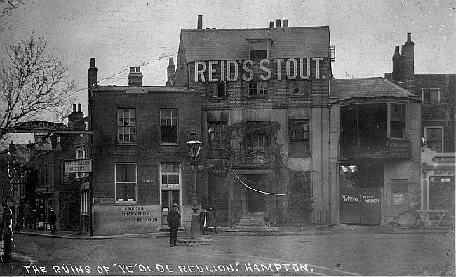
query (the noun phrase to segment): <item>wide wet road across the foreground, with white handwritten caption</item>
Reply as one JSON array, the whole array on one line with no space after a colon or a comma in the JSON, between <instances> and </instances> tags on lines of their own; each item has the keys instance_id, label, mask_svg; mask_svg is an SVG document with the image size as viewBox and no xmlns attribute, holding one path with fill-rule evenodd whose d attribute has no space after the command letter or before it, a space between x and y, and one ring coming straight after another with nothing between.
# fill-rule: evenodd
<instances>
[{"instance_id":1,"label":"wide wet road across the foreground, with white handwritten caption","mask_svg":"<svg viewBox=\"0 0 456 277\"><path fill-rule=\"evenodd\" d=\"M169 238L76 240L15 235L32 261L23 276L45 275L364 275L455 273L447 234L213 236L214 245L169 247Z\"/></svg>"}]
</instances>

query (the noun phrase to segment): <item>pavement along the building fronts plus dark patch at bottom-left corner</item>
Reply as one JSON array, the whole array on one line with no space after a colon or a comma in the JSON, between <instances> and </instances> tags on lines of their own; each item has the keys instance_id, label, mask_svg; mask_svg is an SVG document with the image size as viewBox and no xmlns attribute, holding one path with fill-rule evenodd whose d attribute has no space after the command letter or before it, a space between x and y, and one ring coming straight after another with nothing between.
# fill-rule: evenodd
<instances>
[{"instance_id":1,"label":"pavement along the building fronts plus dark patch at bottom-left corner","mask_svg":"<svg viewBox=\"0 0 456 277\"><path fill-rule=\"evenodd\" d=\"M217 236L286 236L286 235L299 235L299 234L326 234L326 235L339 235L339 234L415 234L415 233L448 233L455 234L455 231L447 228L405 228L405 227L382 227L382 226L358 226L346 224L307 224L298 227L270 227L273 231L233 231L230 227L217 227L218 234L210 234L201 236L201 238L214 239ZM121 234L121 235L107 235L107 236L90 236L90 234L83 231L55 231L51 234L49 231L43 230L20 230L15 234L24 234L29 236L48 236L53 238L62 239L83 239L83 240L97 240L97 239L112 239L112 238L160 238L169 237L169 231L156 231L147 234ZM13 239L14 235L13 234ZM190 231L179 231L179 238L190 237ZM23 266L33 264L34 261L27 259L20 253L15 253L14 248L11 257L11 263L0 263L0 276L19 276L23 274Z\"/></svg>"}]
</instances>

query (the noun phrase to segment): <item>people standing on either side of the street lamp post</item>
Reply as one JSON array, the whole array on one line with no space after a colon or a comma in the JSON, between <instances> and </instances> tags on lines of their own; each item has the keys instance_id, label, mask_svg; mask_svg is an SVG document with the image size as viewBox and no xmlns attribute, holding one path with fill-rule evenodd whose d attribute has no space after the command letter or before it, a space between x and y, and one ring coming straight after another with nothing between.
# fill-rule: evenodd
<instances>
[{"instance_id":1,"label":"people standing on either side of the street lamp post","mask_svg":"<svg viewBox=\"0 0 456 277\"><path fill-rule=\"evenodd\" d=\"M180 211L177 203L172 205L166 220L170 227L170 246L179 246L177 244L177 231L179 231ZM201 206L201 212L199 213L199 229L203 235L208 235L208 231L210 234L212 234L212 232L218 234L213 207L209 207L209 210L206 210L205 207Z\"/></svg>"}]
</instances>

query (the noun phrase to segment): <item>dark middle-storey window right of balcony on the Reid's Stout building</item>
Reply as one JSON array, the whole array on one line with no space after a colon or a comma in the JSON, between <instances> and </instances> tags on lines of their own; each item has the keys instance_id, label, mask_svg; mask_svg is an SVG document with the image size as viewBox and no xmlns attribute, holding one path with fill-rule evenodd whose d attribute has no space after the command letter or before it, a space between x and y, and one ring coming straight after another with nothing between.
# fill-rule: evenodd
<instances>
[{"instance_id":1,"label":"dark middle-storey window right of balcony on the Reid's Stout building","mask_svg":"<svg viewBox=\"0 0 456 277\"><path fill-rule=\"evenodd\" d=\"M289 122L290 149L288 155L293 158L310 157L310 132L308 120L293 120Z\"/></svg>"}]
</instances>

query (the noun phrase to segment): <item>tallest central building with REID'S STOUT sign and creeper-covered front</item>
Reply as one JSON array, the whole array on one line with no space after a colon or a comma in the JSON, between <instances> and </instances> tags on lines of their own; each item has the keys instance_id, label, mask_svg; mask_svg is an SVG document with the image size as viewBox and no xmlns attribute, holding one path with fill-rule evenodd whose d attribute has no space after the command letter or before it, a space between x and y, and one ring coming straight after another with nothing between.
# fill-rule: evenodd
<instances>
[{"instance_id":1,"label":"tallest central building with REID'S STOUT sign and creeper-covered front","mask_svg":"<svg viewBox=\"0 0 456 277\"><path fill-rule=\"evenodd\" d=\"M175 79L199 93L202 205L236 223L330 222L329 27L181 31ZM169 69L169 67L168 67ZM169 71L168 71L169 73ZM174 76L168 74L168 76ZM334 208L334 207L333 207Z\"/></svg>"}]
</instances>

